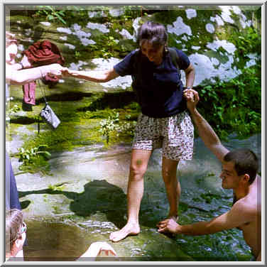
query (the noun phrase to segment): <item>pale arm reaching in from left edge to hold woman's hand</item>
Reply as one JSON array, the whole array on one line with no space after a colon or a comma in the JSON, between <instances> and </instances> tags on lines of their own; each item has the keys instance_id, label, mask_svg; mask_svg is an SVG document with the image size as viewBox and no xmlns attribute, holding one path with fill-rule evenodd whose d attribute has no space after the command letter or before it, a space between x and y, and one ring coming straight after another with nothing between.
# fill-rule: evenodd
<instances>
[{"instance_id":1,"label":"pale arm reaching in from left edge to hold woman's hand","mask_svg":"<svg viewBox=\"0 0 267 267\"><path fill-rule=\"evenodd\" d=\"M45 75L56 75L60 77L63 67L59 64L33 67L26 70L16 70L16 65L6 64L6 82L11 85L25 85L28 82L41 79Z\"/></svg>"}]
</instances>

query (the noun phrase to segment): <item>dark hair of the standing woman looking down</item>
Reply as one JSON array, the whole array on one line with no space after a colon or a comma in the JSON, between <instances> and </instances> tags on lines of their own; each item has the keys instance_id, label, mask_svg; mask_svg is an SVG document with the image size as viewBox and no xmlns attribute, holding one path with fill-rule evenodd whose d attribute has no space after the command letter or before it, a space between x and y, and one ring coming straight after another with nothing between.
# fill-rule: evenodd
<instances>
[{"instance_id":1,"label":"dark hair of the standing woman looking down","mask_svg":"<svg viewBox=\"0 0 267 267\"><path fill-rule=\"evenodd\" d=\"M165 45L168 40L168 33L165 26L153 21L147 21L138 29L137 43L142 45L144 40L148 40L154 47Z\"/></svg>"}]
</instances>

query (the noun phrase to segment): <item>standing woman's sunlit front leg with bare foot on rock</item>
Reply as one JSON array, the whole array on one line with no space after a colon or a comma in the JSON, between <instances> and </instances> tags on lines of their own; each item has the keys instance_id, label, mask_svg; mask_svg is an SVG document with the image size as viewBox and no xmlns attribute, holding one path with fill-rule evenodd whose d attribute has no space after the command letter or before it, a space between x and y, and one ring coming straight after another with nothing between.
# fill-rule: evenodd
<instances>
[{"instance_id":1,"label":"standing woman's sunlit front leg with bare foot on rock","mask_svg":"<svg viewBox=\"0 0 267 267\"><path fill-rule=\"evenodd\" d=\"M128 220L124 228L110 234L111 241L120 241L128 235L139 234L138 214L143 197L143 175L146 173L152 151L133 149L127 189Z\"/></svg>"}]
</instances>

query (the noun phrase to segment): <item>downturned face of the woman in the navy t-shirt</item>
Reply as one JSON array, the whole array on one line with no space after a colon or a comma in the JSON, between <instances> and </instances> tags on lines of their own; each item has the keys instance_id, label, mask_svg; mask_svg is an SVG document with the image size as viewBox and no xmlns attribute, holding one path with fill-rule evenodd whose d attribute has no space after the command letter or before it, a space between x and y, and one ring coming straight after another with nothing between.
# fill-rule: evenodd
<instances>
[{"instance_id":1,"label":"downturned face of the woman in the navy t-shirt","mask_svg":"<svg viewBox=\"0 0 267 267\"><path fill-rule=\"evenodd\" d=\"M156 65L159 65L163 59L163 50L164 45L153 47L148 40L143 41L141 44L141 52L143 55L146 55L149 61L154 62Z\"/></svg>"}]
</instances>

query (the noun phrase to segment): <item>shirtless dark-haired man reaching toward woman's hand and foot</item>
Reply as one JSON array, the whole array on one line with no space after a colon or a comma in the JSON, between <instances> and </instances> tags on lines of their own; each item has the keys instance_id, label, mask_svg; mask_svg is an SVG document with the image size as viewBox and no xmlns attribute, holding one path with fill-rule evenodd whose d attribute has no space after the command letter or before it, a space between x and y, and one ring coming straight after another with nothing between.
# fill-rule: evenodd
<instances>
[{"instance_id":1,"label":"shirtless dark-haired man reaching toward woman's hand and foot","mask_svg":"<svg viewBox=\"0 0 267 267\"><path fill-rule=\"evenodd\" d=\"M173 219L165 219L157 225L158 231L197 236L237 227L243 231L244 239L251 247L256 261L261 261L261 177L256 174L258 159L248 149L229 152L197 111L197 92L192 89L186 90L185 97L187 108L205 146L222 162L222 187L233 190L234 202L228 212L209 222L180 225Z\"/></svg>"}]
</instances>

